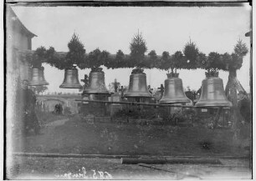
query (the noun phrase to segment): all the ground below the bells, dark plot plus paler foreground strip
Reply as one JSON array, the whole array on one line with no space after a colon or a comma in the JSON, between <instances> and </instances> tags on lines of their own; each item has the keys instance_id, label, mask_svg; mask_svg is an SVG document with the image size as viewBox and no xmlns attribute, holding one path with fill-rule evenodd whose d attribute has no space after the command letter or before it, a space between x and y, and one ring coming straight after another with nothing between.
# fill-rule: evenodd
<instances>
[{"instance_id":1,"label":"all the ground below the bells, dark plot plus paler foreground strip","mask_svg":"<svg viewBox=\"0 0 256 181\"><path fill-rule=\"evenodd\" d=\"M50 117L50 115L48 115ZM56 117L56 118L55 118ZM59 118L59 119L58 119ZM121 164L120 158L8 157L7 175L15 179L181 179L251 178L248 128L233 144L228 128L172 126L145 120L61 116L45 119L41 133L13 135L14 153L197 156L223 164L157 164L157 169ZM247 157L223 159L225 156ZM151 165L152 166L152 165ZM159 170L161 169L161 170ZM86 173L85 173L86 170Z\"/></svg>"}]
</instances>

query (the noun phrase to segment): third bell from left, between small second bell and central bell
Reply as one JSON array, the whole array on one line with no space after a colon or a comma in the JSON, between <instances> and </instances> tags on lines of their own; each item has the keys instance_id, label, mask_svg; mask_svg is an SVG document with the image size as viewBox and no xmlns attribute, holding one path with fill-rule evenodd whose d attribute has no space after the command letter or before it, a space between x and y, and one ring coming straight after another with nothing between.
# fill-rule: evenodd
<instances>
[{"instance_id":1,"label":"third bell from left, between small second bell and central bell","mask_svg":"<svg viewBox=\"0 0 256 181\"><path fill-rule=\"evenodd\" d=\"M89 75L89 85L84 89L84 93L109 93L105 87L105 73L90 73Z\"/></svg>"}]
</instances>

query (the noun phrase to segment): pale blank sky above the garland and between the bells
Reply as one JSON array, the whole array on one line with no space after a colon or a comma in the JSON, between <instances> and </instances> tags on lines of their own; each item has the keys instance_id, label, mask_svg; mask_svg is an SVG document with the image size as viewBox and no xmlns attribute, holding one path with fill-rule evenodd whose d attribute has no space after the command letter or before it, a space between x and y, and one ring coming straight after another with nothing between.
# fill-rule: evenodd
<instances>
[{"instance_id":1,"label":"pale blank sky above the garland and between the bells","mask_svg":"<svg viewBox=\"0 0 256 181\"><path fill-rule=\"evenodd\" d=\"M233 46L241 38L249 47L249 38L244 34L249 31L248 7L240 8L134 8L134 7L57 7L25 8L13 7L18 18L32 33L32 48L53 46L56 51L68 51L67 43L73 33L79 35L86 53L95 48L116 53L121 49L130 53L131 38L138 29L146 39L149 53L152 49L161 55L163 51L175 53L182 50L189 41L197 43L202 53L212 51L232 53ZM147 54L146 53L146 54ZM79 93L77 89L59 88L64 79L64 70L44 65L44 75L49 82L49 92ZM104 69L106 86L115 78L122 85L129 84L131 68ZM166 72L157 69L145 70L147 83L157 88L166 79ZM198 89L204 70L181 70L183 87ZM79 79L90 69L79 70ZM220 73L224 85L228 73ZM243 58L243 67L238 70L238 80L249 90L249 53Z\"/></svg>"}]
</instances>

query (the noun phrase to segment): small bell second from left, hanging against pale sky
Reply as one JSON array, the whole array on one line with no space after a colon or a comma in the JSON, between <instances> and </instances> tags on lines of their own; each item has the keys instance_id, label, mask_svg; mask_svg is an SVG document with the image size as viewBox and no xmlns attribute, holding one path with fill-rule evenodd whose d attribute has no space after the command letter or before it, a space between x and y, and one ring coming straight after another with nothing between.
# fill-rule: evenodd
<instances>
[{"instance_id":1,"label":"small bell second from left, hanging against pale sky","mask_svg":"<svg viewBox=\"0 0 256 181\"><path fill-rule=\"evenodd\" d=\"M78 69L65 69L64 81L59 88L83 88L79 83Z\"/></svg>"}]
</instances>

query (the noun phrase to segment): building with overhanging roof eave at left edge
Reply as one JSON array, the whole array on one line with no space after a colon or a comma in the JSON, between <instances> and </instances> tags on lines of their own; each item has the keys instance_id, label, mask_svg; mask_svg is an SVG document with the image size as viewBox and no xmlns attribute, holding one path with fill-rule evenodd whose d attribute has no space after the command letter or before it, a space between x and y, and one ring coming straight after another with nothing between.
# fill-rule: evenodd
<instances>
[{"instance_id":1,"label":"building with overhanging roof eave at left edge","mask_svg":"<svg viewBox=\"0 0 256 181\"><path fill-rule=\"evenodd\" d=\"M24 79L29 80L29 67L28 62L24 58L20 58L19 52L31 50L32 38L36 37L31 33L23 23L18 19L13 9L7 5L6 7L6 118L7 127L13 128L20 124L18 115L17 92L21 88L21 81ZM11 129L8 129L11 130Z\"/></svg>"}]
</instances>

